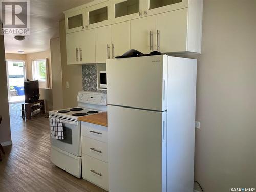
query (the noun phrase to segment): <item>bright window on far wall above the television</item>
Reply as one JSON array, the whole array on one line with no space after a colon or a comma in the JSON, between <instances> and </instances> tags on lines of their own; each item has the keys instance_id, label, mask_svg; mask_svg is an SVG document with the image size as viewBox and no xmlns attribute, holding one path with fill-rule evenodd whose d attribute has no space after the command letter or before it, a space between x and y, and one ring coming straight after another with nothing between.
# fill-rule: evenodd
<instances>
[{"instance_id":1,"label":"bright window on far wall above the television","mask_svg":"<svg viewBox=\"0 0 256 192\"><path fill-rule=\"evenodd\" d=\"M46 81L46 59L33 61L34 80Z\"/></svg>"}]
</instances>

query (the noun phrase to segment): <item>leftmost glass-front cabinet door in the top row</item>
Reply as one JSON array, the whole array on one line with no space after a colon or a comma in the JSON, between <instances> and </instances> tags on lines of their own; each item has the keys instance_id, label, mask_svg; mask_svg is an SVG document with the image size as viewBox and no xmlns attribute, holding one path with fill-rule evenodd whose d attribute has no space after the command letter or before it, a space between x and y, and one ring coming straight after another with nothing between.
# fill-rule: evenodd
<instances>
[{"instance_id":1,"label":"leftmost glass-front cabinet door in the top row","mask_svg":"<svg viewBox=\"0 0 256 192\"><path fill-rule=\"evenodd\" d=\"M86 19L85 11L81 9L79 11L67 13L65 15L66 19L66 33L72 33L76 31L81 31L84 29Z\"/></svg>"}]
</instances>

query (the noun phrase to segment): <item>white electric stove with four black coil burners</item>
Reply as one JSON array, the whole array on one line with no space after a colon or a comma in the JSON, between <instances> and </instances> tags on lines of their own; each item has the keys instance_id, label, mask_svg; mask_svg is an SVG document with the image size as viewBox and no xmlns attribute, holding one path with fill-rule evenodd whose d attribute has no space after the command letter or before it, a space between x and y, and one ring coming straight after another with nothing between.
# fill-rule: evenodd
<instances>
[{"instance_id":1,"label":"white electric stove with four black coil burners","mask_svg":"<svg viewBox=\"0 0 256 192\"><path fill-rule=\"evenodd\" d=\"M49 118L61 119L64 139L51 137L51 161L66 172L81 178L81 123L78 117L94 115L106 111L106 94L79 92L78 106L53 110Z\"/></svg>"}]
</instances>

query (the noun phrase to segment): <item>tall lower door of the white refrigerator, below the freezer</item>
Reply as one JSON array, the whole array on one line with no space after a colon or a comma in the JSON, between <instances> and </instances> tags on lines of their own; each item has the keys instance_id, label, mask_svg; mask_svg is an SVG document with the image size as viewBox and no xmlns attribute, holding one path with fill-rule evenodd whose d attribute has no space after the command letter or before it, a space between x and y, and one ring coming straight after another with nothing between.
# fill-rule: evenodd
<instances>
[{"instance_id":1,"label":"tall lower door of the white refrigerator, below the freezer","mask_svg":"<svg viewBox=\"0 0 256 192\"><path fill-rule=\"evenodd\" d=\"M166 112L108 106L109 191L166 191Z\"/></svg>"}]
</instances>

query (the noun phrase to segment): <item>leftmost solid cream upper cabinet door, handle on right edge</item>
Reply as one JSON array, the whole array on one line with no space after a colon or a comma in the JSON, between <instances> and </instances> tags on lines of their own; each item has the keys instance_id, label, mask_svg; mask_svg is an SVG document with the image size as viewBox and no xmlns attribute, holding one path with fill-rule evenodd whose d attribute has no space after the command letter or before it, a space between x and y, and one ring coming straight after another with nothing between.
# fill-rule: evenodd
<instances>
[{"instance_id":1,"label":"leftmost solid cream upper cabinet door, handle on right edge","mask_svg":"<svg viewBox=\"0 0 256 192\"><path fill-rule=\"evenodd\" d=\"M78 32L66 34L67 64L79 63L79 39Z\"/></svg>"}]
</instances>

